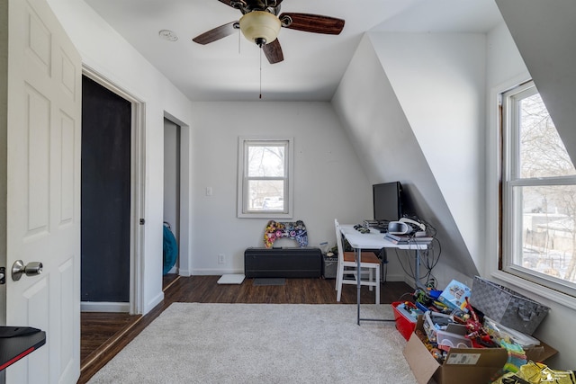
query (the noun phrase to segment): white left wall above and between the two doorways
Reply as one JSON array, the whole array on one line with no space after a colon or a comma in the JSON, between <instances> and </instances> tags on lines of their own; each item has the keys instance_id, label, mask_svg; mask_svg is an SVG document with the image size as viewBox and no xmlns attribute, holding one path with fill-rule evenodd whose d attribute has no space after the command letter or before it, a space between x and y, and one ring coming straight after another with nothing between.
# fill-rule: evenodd
<instances>
[{"instance_id":1,"label":"white left wall above and between the two doorways","mask_svg":"<svg viewBox=\"0 0 576 384\"><path fill-rule=\"evenodd\" d=\"M162 293L164 116L191 121L184 94L152 67L121 35L83 1L49 0L85 66L146 104L146 176L144 188L142 311L154 308ZM143 79L146 79L143 81Z\"/></svg>"}]
</instances>

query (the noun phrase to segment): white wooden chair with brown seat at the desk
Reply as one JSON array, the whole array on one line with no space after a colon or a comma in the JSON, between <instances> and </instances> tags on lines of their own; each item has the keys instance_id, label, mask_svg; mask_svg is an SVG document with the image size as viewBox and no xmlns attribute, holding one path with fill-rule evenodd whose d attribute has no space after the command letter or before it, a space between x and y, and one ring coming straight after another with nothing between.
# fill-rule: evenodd
<instances>
[{"instance_id":1,"label":"white wooden chair with brown seat at the desk","mask_svg":"<svg viewBox=\"0 0 576 384\"><path fill-rule=\"evenodd\" d=\"M334 226L336 228L336 245L338 246L338 272L336 273L338 294L336 300L340 301L342 284L358 284L356 281L358 264L356 263L355 252L344 251L338 219L334 219ZM367 285L370 290L376 287L376 304L380 304L380 259L373 252L362 252L360 257L360 285ZM368 280L362 280L362 271L366 269L368 270ZM344 279L345 275L351 275L352 278Z\"/></svg>"}]
</instances>

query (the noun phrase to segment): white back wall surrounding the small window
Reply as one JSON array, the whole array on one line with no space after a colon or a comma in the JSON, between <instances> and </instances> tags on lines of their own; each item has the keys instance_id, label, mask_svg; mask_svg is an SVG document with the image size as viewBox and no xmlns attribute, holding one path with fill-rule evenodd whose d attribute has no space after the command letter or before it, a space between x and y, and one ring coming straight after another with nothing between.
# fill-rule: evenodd
<instances>
[{"instance_id":1,"label":"white back wall surrounding the small window","mask_svg":"<svg viewBox=\"0 0 576 384\"><path fill-rule=\"evenodd\" d=\"M238 137L275 134L294 138L291 220L310 246L336 244L334 219L372 218L371 186L329 103L193 103L193 274L241 273L244 250L264 246L268 220L236 217Z\"/></svg>"}]
</instances>

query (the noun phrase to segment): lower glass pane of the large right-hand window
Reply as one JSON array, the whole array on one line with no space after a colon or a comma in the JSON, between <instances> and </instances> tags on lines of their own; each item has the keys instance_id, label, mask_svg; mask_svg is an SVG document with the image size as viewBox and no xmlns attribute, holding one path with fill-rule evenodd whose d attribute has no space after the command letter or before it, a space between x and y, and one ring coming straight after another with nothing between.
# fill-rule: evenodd
<instances>
[{"instance_id":1,"label":"lower glass pane of the large right-hand window","mask_svg":"<svg viewBox=\"0 0 576 384\"><path fill-rule=\"evenodd\" d=\"M574 246L576 232L576 186L546 185L515 187L514 200L521 201L518 229L522 228L521 251L513 263L562 281L576 281Z\"/></svg>"}]
</instances>

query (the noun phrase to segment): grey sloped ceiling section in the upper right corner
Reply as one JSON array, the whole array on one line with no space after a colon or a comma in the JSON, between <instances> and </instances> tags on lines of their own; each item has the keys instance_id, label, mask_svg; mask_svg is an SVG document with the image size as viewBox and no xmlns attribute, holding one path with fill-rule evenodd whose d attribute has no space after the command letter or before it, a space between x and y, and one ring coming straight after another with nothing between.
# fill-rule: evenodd
<instances>
[{"instance_id":1,"label":"grey sloped ceiling section in the upper right corner","mask_svg":"<svg viewBox=\"0 0 576 384\"><path fill-rule=\"evenodd\" d=\"M574 0L496 0L496 3L572 162L576 163Z\"/></svg>"}]
</instances>

